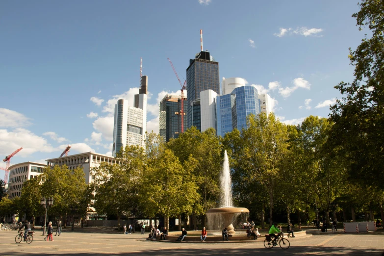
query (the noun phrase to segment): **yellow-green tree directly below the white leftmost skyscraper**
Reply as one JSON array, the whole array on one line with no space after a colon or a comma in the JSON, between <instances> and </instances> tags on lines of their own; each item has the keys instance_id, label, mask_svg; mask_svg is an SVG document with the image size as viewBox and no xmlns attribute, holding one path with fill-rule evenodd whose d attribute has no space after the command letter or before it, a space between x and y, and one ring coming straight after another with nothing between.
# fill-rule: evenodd
<instances>
[{"instance_id":1,"label":"yellow-green tree directly below the white leftmost skyscraper","mask_svg":"<svg viewBox=\"0 0 384 256\"><path fill-rule=\"evenodd\" d=\"M120 164L102 163L92 170L95 176L92 187L97 212L116 215L120 230L121 216L130 214L130 210L137 206L138 189L146 160L140 146L126 146L116 154L116 158Z\"/></svg>"}]
</instances>

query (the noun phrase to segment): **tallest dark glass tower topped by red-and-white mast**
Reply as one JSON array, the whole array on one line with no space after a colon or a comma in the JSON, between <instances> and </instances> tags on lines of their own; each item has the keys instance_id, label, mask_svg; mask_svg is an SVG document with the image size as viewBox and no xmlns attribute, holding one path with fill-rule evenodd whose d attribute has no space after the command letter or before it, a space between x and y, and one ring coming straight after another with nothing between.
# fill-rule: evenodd
<instances>
[{"instance_id":1,"label":"tallest dark glass tower topped by red-and-white mast","mask_svg":"<svg viewBox=\"0 0 384 256\"><path fill-rule=\"evenodd\" d=\"M201 51L196 54L195 59L189 60L184 130L192 126L201 130L200 92L211 89L220 94L219 79L219 62L216 62L208 51Z\"/></svg>"}]
</instances>

